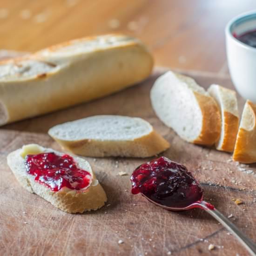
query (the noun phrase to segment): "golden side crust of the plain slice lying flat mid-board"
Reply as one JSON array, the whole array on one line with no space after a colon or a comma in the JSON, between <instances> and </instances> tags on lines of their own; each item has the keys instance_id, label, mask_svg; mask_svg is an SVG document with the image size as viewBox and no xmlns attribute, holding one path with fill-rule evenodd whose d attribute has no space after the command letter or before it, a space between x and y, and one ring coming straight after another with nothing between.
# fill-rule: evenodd
<instances>
[{"instance_id":1,"label":"golden side crust of the plain slice lying flat mid-board","mask_svg":"<svg viewBox=\"0 0 256 256\"><path fill-rule=\"evenodd\" d=\"M148 135L136 138L133 141L99 141L92 139L65 141L51 136L62 148L73 154L91 157L150 157L170 147L169 142L154 130Z\"/></svg>"}]
</instances>

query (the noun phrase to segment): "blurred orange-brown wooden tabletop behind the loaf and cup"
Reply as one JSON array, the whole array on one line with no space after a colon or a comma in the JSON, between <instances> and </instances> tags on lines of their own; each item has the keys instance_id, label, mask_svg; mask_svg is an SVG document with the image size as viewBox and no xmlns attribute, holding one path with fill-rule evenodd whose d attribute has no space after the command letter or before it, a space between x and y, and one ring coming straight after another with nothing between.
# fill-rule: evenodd
<instances>
[{"instance_id":1,"label":"blurred orange-brown wooden tabletop behind the loaf and cup","mask_svg":"<svg viewBox=\"0 0 256 256\"><path fill-rule=\"evenodd\" d=\"M123 32L148 44L157 65L227 74L225 24L254 8L255 0L0 0L0 48Z\"/></svg>"}]
</instances>

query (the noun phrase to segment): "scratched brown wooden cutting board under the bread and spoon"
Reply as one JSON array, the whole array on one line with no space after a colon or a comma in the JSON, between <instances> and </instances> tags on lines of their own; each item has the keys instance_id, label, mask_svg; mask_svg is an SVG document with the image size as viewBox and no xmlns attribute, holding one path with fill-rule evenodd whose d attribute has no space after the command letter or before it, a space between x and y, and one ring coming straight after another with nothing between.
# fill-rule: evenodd
<instances>
[{"instance_id":1,"label":"scratched brown wooden cutting board under the bread and spoon","mask_svg":"<svg viewBox=\"0 0 256 256\"><path fill-rule=\"evenodd\" d=\"M207 212L169 212L131 195L129 175L149 159L89 158L108 195L108 206L85 214L67 214L15 180L6 156L23 144L39 143L61 150L47 130L59 123L90 115L139 116L149 121L171 147L162 155L186 165L201 182L205 198L256 241L256 176L240 171L230 154L182 141L154 114L149 90L165 69L140 85L103 99L6 125L0 129L0 255L221 255L248 253ZM205 88L220 83L232 88L229 77L190 76ZM171 99L170 99L171 102ZM240 110L244 101L239 98ZM32 106L33 107L33 106ZM213 124L214 125L214 124ZM246 167L256 170L256 165ZM120 176L125 171L129 175ZM241 199L236 205L232 199ZM124 243L119 244L122 240ZM215 249L209 251L209 244Z\"/></svg>"}]
</instances>

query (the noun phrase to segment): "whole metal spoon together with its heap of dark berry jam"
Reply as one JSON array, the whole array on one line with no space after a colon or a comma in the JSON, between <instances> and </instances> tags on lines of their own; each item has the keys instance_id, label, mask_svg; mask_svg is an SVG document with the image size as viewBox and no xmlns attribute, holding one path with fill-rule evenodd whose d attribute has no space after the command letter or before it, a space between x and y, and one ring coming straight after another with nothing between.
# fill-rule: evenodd
<instances>
[{"instance_id":1,"label":"whole metal spoon together with its heap of dark berry jam","mask_svg":"<svg viewBox=\"0 0 256 256\"><path fill-rule=\"evenodd\" d=\"M206 210L243 244L251 255L256 245L223 216L212 204L203 200L203 190L187 168L160 157L141 164L131 175L132 194L143 195L149 202L171 211L193 208Z\"/></svg>"}]
</instances>

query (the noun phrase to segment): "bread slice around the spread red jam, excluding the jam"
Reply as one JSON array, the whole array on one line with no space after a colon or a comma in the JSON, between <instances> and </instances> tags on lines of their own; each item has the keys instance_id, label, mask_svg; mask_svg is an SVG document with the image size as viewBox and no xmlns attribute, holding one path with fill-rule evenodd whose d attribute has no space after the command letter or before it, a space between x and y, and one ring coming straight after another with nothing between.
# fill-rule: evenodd
<instances>
[{"instance_id":1,"label":"bread slice around the spread red jam, excluding the jam","mask_svg":"<svg viewBox=\"0 0 256 256\"><path fill-rule=\"evenodd\" d=\"M27 173L24 157L28 154L34 155L42 152L54 152L57 155L63 155L51 148L43 148L37 144L29 144L13 151L7 156L8 166L25 189L31 193L40 195L55 207L68 213L82 213L84 211L96 210L104 205L107 201L105 191L97 181L90 164L80 157L73 156L78 167L91 174L92 178L88 187L80 190L63 187L58 192L55 192L44 184L35 182L35 176Z\"/></svg>"}]
</instances>

